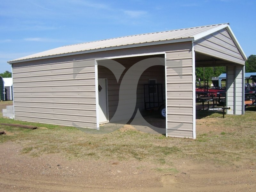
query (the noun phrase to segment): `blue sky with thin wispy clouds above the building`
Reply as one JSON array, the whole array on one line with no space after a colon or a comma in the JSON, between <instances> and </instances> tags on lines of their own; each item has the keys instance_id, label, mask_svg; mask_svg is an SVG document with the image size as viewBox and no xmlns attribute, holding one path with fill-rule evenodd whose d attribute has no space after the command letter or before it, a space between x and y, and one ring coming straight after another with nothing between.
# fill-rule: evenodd
<instances>
[{"instance_id":1,"label":"blue sky with thin wispy clouds above the building","mask_svg":"<svg viewBox=\"0 0 256 192\"><path fill-rule=\"evenodd\" d=\"M256 54L255 0L2 0L0 73L8 60L63 45L229 23Z\"/></svg>"}]
</instances>

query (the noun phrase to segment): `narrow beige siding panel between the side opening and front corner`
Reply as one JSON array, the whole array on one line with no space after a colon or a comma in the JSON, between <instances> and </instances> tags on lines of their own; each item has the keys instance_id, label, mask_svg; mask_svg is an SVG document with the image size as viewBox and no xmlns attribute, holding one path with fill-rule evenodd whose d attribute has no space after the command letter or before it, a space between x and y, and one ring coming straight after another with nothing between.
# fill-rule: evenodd
<instances>
[{"instance_id":1,"label":"narrow beige siding panel between the side opening and front corner","mask_svg":"<svg viewBox=\"0 0 256 192\"><path fill-rule=\"evenodd\" d=\"M193 138L192 43L166 52L167 135ZM179 67L181 66L181 67Z\"/></svg>"}]
</instances>

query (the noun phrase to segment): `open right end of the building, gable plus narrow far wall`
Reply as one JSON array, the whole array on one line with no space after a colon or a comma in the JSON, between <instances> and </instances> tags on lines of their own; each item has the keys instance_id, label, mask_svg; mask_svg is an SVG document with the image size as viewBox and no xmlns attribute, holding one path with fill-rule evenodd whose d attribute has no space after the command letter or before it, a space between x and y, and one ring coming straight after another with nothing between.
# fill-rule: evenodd
<instances>
[{"instance_id":1,"label":"open right end of the building, gable plus narrow far wall","mask_svg":"<svg viewBox=\"0 0 256 192\"><path fill-rule=\"evenodd\" d=\"M226 66L227 114L244 114L244 62L246 56L227 26L194 42L196 67Z\"/></svg>"}]
</instances>

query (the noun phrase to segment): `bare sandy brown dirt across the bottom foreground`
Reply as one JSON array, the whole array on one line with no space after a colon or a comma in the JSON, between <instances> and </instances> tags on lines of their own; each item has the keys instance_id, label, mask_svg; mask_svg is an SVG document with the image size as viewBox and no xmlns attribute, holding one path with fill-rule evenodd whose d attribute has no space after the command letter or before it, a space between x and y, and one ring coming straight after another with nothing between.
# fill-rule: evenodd
<instances>
[{"instance_id":1,"label":"bare sandy brown dirt across the bottom foreground","mask_svg":"<svg viewBox=\"0 0 256 192\"><path fill-rule=\"evenodd\" d=\"M164 175L142 161L67 160L58 154L31 157L21 144L0 145L1 191L255 191L256 165L246 159L232 166L176 162L179 173ZM189 189L189 190L188 190Z\"/></svg>"}]
</instances>

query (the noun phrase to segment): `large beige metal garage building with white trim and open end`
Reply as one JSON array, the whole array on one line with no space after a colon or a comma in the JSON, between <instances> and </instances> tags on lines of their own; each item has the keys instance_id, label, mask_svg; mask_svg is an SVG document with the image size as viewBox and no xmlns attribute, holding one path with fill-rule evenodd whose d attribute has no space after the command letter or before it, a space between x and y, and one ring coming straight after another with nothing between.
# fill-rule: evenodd
<instances>
[{"instance_id":1,"label":"large beige metal garage building with white trim and open end","mask_svg":"<svg viewBox=\"0 0 256 192\"><path fill-rule=\"evenodd\" d=\"M142 70L136 108L144 107L142 85L156 79L164 84L166 135L195 139L195 68L226 66L227 112L242 115L245 60L228 23L59 47L8 62L15 119L99 128L136 113L134 89L123 82Z\"/></svg>"}]
</instances>

